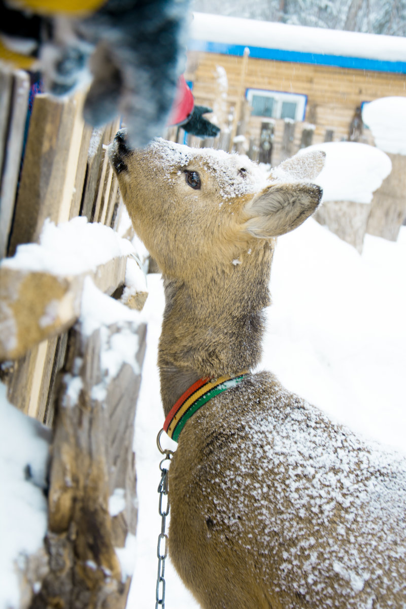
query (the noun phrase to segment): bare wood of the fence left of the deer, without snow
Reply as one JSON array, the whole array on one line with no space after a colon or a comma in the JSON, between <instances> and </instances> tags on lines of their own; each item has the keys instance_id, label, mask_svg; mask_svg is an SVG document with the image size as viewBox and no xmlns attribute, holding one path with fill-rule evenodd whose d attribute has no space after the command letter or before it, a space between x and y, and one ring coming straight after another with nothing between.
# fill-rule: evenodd
<instances>
[{"instance_id":1,"label":"bare wood of the fence left of the deer, without snow","mask_svg":"<svg viewBox=\"0 0 406 609\"><path fill-rule=\"evenodd\" d=\"M0 261L5 263L19 245L38 242L47 219L58 224L85 216L116 230L122 213L105 155L119 121L92 129L82 119L82 94L63 100L38 94L26 135L29 90L26 72L0 65ZM126 237L132 236L129 228ZM136 532L133 421L145 326L134 320L106 322L88 335L75 319L86 280L96 283L99 294L119 292L126 261L122 255L83 276L62 278L0 264L0 316L5 312L0 326L23 328L16 343L0 340L0 382L7 385L10 403L54 435L47 565L36 580L31 577L35 585L21 590L19 608L125 607L131 576L121 572L115 548ZM61 286L71 291L66 323L41 337L39 312L47 297L58 298ZM145 294L132 298L135 306L140 300ZM100 354L116 334L135 341L134 365L123 364L110 374ZM74 399L72 380L79 387ZM117 492L123 507L111 515L109 498ZM26 580L23 573L21 581Z\"/></svg>"}]
</instances>

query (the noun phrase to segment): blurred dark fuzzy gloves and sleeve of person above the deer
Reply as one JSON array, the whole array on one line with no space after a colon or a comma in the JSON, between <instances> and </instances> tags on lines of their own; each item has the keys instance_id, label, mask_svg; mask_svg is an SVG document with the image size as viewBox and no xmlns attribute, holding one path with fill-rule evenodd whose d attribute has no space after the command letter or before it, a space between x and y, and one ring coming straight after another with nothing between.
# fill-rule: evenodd
<instances>
[{"instance_id":1,"label":"blurred dark fuzzy gloves and sleeve of person above the deer","mask_svg":"<svg viewBox=\"0 0 406 609\"><path fill-rule=\"evenodd\" d=\"M10 16L7 2L0 7ZM188 7L189 0L108 0L86 18L13 11L0 32L33 42L53 94L74 90L90 71L86 121L98 127L121 115L131 144L145 146L163 132L186 65Z\"/></svg>"}]
</instances>

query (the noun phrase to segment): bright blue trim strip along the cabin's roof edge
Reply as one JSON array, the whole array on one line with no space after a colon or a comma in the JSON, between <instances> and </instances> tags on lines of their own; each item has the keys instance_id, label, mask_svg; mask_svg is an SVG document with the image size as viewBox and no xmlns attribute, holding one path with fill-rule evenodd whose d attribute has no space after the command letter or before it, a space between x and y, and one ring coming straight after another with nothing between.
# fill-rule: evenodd
<instances>
[{"instance_id":1,"label":"bright blue trim strip along the cabin's roof edge","mask_svg":"<svg viewBox=\"0 0 406 609\"><path fill-rule=\"evenodd\" d=\"M243 44L191 40L189 41L187 48L189 51L206 51L209 53L237 55L242 57L245 46ZM260 46L250 46L250 57L256 59L274 59L279 62L313 63L321 66L334 66L335 68L351 68L370 70L373 72L406 74L406 62L388 62L364 57L345 57L344 55L323 55L321 53L283 51L282 49L265 49Z\"/></svg>"}]
</instances>

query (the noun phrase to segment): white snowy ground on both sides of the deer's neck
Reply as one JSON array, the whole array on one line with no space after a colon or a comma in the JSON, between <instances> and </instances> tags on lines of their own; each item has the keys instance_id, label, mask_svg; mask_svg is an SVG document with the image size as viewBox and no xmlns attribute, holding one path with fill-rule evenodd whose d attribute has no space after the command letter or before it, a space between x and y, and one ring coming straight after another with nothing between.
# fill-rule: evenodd
<instances>
[{"instance_id":1,"label":"white snowy ground on both sides of the deer's neck","mask_svg":"<svg viewBox=\"0 0 406 609\"><path fill-rule=\"evenodd\" d=\"M261 367L343 423L406 450L406 227L396 243L366 236L362 256L314 220L282 236L271 271L273 305ZM135 451L139 521L128 609L153 607L163 425L156 368L164 306L159 275L149 275L149 323ZM168 561L166 606L198 607Z\"/></svg>"}]
</instances>

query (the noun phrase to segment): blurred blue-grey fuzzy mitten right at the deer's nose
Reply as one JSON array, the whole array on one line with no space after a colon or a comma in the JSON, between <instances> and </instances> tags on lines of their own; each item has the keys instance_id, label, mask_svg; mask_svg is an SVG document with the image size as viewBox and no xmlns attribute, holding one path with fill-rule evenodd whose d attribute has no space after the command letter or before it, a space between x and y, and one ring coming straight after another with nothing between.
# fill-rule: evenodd
<instances>
[{"instance_id":1,"label":"blurred blue-grey fuzzy mitten right at the deer's nose","mask_svg":"<svg viewBox=\"0 0 406 609\"><path fill-rule=\"evenodd\" d=\"M186 63L188 0L109 0L77 23L94 46L85 119L99 125L122 114L131 143L163 131Z\"/></svg>"}]
</instances>

